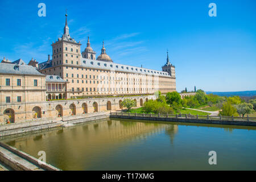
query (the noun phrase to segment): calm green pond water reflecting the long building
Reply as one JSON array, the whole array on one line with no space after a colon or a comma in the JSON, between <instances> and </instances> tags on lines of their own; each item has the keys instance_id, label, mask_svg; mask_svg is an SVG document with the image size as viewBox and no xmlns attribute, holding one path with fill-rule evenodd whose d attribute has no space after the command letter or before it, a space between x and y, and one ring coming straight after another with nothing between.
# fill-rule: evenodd
<instances>
[{"instance_id":1,"label":"calm green pond water reflecting the long building","mask_svg":"<svg viewBox=\"0 0 256 182\"><path fill-rule=\"evenodd\" d=\"M109 119L5 142L63 170L255 170L255 139L256 127Z\"/></svg>"}]
</instances>

